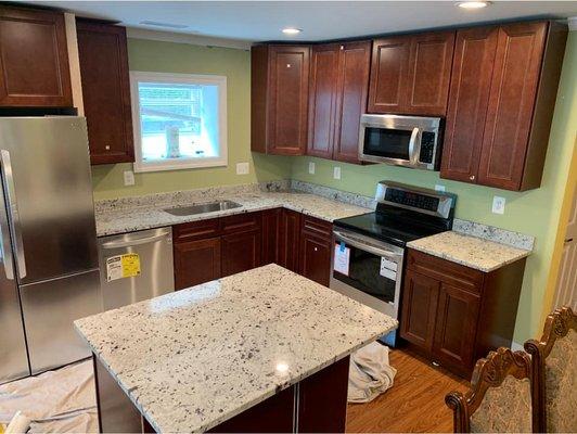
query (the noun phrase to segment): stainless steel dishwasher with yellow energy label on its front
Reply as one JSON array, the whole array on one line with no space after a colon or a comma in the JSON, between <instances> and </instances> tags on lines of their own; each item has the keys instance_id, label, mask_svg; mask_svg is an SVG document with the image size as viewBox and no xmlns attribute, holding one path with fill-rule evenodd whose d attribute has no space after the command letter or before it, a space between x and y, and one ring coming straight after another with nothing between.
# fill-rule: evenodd
<instances>
[{"instance_id":1,"label":"stainless steel dishwasher with yellow energy label on its front","mask_svg":"<svg viewBox=\"0 0 577 434\"><path fill-rule=\"evenodd\" d=\"M172 228L99 238L104 310L175 291Z\"/></svg>"}]
</instances>

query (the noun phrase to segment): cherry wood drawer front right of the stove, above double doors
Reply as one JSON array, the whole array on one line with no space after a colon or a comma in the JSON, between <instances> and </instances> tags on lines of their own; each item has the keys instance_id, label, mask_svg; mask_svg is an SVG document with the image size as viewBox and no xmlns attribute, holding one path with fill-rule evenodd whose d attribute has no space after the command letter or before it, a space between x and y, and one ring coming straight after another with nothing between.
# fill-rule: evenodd
<instances>
[{"instance_id":1,"label":"cherry wood drawer front right of the stove, above double doors","mask_svg":"<svg viewBox=\"0 0 577 434\"><path fill-rule=\"evenodd\" d=\"M407 268L448 284L480 294L485 273L450 260L409 248Z\"/></svg>"}]
</instances>

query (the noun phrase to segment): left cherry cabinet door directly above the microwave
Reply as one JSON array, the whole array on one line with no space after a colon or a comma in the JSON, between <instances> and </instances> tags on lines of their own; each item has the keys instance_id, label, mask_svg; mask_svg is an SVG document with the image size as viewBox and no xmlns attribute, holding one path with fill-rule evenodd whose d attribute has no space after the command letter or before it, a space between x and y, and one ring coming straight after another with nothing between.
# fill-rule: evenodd
<instances>
[{"instance_id":1,"label":"left cherry cabinet door directly above the microwave","mask_svg":"<svg viewBox=\"0 0 577 434\"><path fill-rule=\"evenodd\" d=\"M373 41L370 113L405 113L411 36Z\"/></svg>"}]
</instances>

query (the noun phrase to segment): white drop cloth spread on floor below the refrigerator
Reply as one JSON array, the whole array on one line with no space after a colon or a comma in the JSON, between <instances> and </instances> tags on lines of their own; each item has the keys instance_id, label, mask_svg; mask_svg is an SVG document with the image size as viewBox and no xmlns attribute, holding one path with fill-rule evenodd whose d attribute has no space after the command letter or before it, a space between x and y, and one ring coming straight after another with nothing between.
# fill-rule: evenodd
<instances>
[{"instance_id":1,"label":"white drop cloth spread on floor below the refrigerator","mask_svg":"<svg viewBox=\"0 0 577 434\"><path fill-rule=\"evenodd\" d=\"M21 410L29 433L97 433L92 360L0 385L0 423Z\"/></svg>"}]
</instances>

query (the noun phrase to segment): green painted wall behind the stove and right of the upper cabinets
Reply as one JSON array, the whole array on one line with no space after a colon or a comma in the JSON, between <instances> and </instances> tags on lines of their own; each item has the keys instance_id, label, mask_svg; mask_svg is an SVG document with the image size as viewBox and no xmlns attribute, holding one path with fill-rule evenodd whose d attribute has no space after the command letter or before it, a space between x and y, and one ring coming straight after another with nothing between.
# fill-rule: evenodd
<instances>
[{"instance_id":1,"label":"green painted wall behind the stove and right of the upper cabinets","mask_svg":"<svg viewBox=\"0 0 577 434\"><path fill-rule=\"evenodd\" d=\"M312 157L296 157L292 177L339 190L373 195L383 179L434 188L446 186L459 195L457 217L497 226L536 238L534 254L527 259L520 302L515 342L540 333L540 315L549 265L559 225L559 214L577 130L577 31L569 34L553 125L540 189L523 193L470 186L440 179L438 173L411 170L385 165L358 166ZM308 163L316 163L316 174L308 174ZM341 180L333 179L333 167L341 166ZM491 213L492 196L507 199L505 214Z\"/></svg>"}]
</instances>

